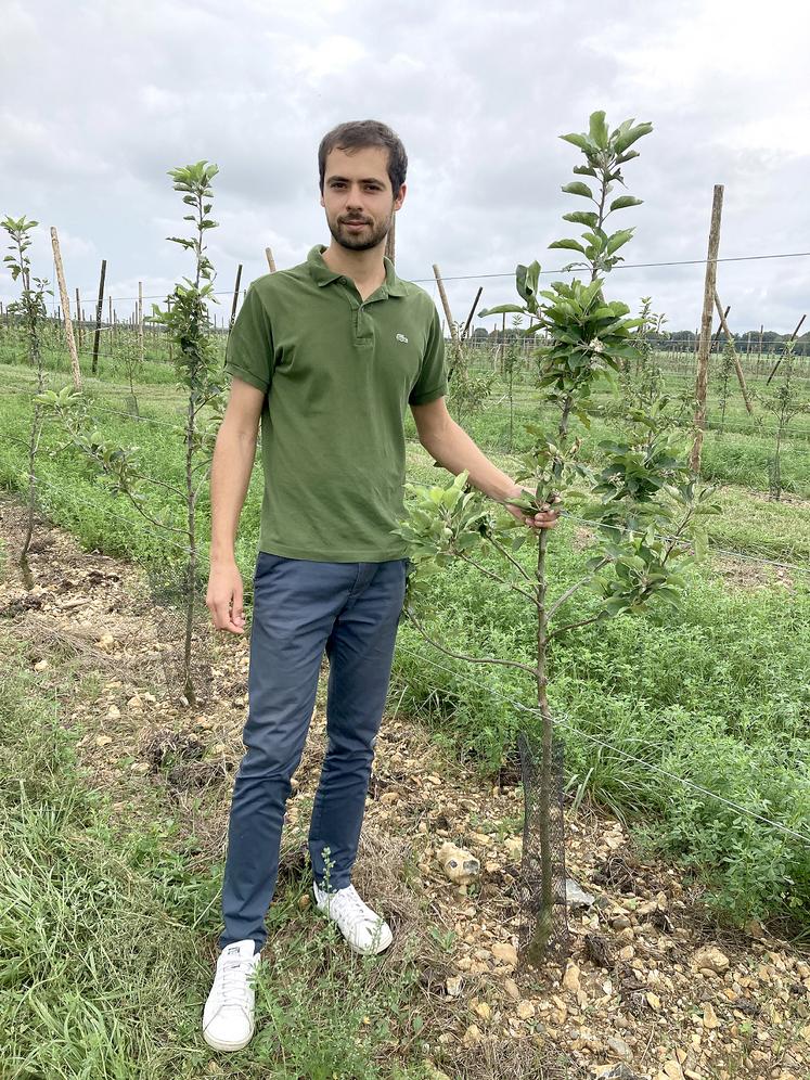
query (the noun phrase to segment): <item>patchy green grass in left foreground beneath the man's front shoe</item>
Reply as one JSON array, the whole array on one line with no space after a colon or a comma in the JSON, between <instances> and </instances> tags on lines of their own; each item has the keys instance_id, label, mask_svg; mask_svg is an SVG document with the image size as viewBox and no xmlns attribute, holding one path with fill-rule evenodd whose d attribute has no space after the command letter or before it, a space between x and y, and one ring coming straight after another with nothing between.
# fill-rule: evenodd
<instances>
[{"instance_id":1,"label":"patchy green grass in left foreground beneath the man's front shoe","mask_svg":"<svg viewBox=\"0 0 810 1080\"><path fill-rule=\"evenodd\" d=\"M271 904L253 1042L205 1045L221 863L195 865L160 787L143 785L126 820L114 812L77 761L69 670L52 664L46 693L23 644L0 641L0 1075L424 1077L419 968L351 953L300 911L308 880Z\"/></svg>"}]
</instances>

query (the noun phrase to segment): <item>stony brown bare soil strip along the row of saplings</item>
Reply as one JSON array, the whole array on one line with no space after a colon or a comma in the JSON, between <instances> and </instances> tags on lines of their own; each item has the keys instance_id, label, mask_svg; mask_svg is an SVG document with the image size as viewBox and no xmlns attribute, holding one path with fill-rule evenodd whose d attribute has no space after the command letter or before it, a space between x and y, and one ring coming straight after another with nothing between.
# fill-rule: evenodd
<instances>
[{"instance_id":1,"label":"stony brown bare soil strip along the row of saplings","mask_svg":"<svg viewBox=\"0 0 810 1080\"><path fill-rule=\"evenodd\" d=\"M0 514L8 537L22 511L5 501ZM201 867L221 859L244 749L247 634L216 652L205 706L178 705L163 678L159 627L144 613L142 575L47 524L37 537L34 589L7 563L0 632L26 642L43 690L79 666L82 693L65 720L83 733L81 764L128 827L147 813L144 786L156 787L196 837ZM323 691L287 805L280 895L308 880ZM594 902L570 913L565 977L518 977L522 818L515 762L481 780L412 718L384 720L353 880L395 930L383 964L419 965L437 1078L808 1076L810 964L757 924L721 931L683 874L640 858L619 822L588 807L568 813L566 861ZM446 840L480 861L473 884L445 876L437 851ZM306 891L300 905L311 905Z\"/></svg>"}]
</instances>

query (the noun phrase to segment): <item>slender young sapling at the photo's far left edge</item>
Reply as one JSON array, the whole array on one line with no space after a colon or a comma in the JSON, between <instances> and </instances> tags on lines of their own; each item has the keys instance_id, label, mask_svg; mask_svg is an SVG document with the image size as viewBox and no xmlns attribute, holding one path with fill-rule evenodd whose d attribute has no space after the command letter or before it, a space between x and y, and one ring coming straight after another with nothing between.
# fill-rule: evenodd
<instances>
[{"instance_id":1,"label":"slender young sapling at the photo's far left edge","mask_svg":"<svg viewBox=\"0 0 810 1080\"><path fill-rule=\"evenodd\" d=\"M28 473L26 476L28 485L28 520L26 524L23 545L20 550L20 568L23 573L23 580L26 589L34 587L30 564L28 563L28 549L30 548L34 535L34 506L37 498L37 451L39 439L42 433L42 407L39 402L39 395L44 390L44 367L42 363L42 331L48 319L46 310L46 296L53 293L48 288L48 281L44 278L31 278L31 261L27 254L31 246L31 230L39 224L38 221L26 221L25 215L22 218L4 218L0 224L8 232L11 243L9 249L11 255L3 257L3 262L8 267L12 281L20 281L22 292L20 299L14 300L7 308L9 316L18 318L26 340L26 351L28 363L37 369L37 394L34 397L34 414L31 426L28 433Z\"/></svg>"}]
</instances>

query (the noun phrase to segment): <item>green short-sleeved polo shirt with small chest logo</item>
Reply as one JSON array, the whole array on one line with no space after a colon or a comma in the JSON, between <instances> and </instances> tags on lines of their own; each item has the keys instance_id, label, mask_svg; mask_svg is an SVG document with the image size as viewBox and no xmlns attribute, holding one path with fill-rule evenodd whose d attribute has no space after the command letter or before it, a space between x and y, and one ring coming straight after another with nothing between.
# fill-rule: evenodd
<instances>
[{"instance_id":1,"label":"green short-sleeved polo shirt with small chest logo","mask_svg":"<svg viewBox=\"0 0 810 1080\"><path fill-rule=\"evenodd\" d=\"M226 371L266 394L259 549L290 558L404 558L404 416L447 390L428 294L394 272L365 300L316 245L257 278L228 339Z\"/></svg>"}]
</instances>

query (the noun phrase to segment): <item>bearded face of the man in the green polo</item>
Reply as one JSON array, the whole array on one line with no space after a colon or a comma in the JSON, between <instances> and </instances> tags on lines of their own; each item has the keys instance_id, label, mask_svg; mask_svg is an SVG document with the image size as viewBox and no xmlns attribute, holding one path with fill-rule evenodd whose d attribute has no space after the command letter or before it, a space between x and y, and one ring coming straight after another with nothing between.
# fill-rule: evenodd
<instances>
[{"instance_id":1,"label":"bearded face of the man in the green polo","mask_svg":"<svg viewBox=\"0 0 810 1080\"><path fill-rule=\"evenodd\" d=\"M388 151L383 146L363 146L350 154L333 150L326 157L321 206L330 232L342 247L364 252L381 244L404 194L402 184L394 197Z\"/></svg>"}]
</instances>

